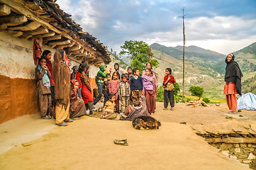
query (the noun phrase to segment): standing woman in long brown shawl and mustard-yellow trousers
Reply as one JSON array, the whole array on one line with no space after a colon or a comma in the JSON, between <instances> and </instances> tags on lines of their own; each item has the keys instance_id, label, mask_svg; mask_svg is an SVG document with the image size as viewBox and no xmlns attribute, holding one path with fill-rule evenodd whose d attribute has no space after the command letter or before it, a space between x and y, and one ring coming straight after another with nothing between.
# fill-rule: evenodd
<instances>
[{"instance_id":1,"label":"standing woman in long brown shawl and mustard-yellow trousers","mask_svg":"<svg viewBox=\"0 0 256 170\"><path fill-rule=\"evenodd\" d=\"M66 53L64 50L57 50L54 55L53 74L55 83L55 117L56 125L67 126L65 122L72 122L69 119L69 91L70 71L65 62Z\"/></svg>"}]
</instances>

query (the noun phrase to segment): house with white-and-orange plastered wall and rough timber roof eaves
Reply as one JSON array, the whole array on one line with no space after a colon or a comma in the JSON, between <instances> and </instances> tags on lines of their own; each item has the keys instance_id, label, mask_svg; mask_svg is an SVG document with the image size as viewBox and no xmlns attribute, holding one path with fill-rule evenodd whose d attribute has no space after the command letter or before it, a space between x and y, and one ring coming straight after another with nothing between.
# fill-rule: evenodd
<instances>
[{"instance_id":1,"label":"house with white-and-orange plastered wall and rough timber roof eaves","mask_svg":"<svg viewBox=\"0 0 256 170\"><path fill-rule=\"evenodd\" d=\"M52 0L0 0L0 123L39 112L35 38L42 51L50 50L53 56L63 49L72 65L84 61L94 72L99 64L111 62L106 47L70 16Z\"/></svg>"}]
</instances>

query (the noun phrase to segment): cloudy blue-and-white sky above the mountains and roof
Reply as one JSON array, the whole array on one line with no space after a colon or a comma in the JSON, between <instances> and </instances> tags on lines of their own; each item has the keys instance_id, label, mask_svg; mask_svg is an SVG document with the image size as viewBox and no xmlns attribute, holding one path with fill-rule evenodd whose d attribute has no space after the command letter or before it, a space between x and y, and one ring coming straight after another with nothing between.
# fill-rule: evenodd
<instances>
[{"instance_id":1,"label":"cloudy blue-and-white sky above the mountains and roof","mask_svg":"<svg viewBox=\"0 0 256 170\"><path fill-rule=\"evenodd\" d=\"M119 52L126 40L227 54L256 42L256 0L57 0L85 32Z\"/></svg>"}]
</instances>

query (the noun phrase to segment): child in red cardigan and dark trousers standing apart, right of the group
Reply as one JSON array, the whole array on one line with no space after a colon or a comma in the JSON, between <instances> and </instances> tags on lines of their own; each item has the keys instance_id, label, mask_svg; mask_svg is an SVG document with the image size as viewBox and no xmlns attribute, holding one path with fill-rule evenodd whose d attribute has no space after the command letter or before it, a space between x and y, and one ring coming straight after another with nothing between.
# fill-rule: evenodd
<instances>
[{"instance_id":1,"label":"child in red cardigan and dark trousers standing apart, right of the group","mask_svg":"<svg viewBox=\"0 0 256 170\"><path fill-rule=\"evenodd\" d=\"M174 89L174 84L176 83L174 77L172 76L172 69L167 68L165 69L165 77L164 77L164 88L165 88L165 92L164 92L164 105L165 108L164 110L167 110L168 107L168 103L170 103L171 105L171 111L173 111L174 108L174 93L173 93L173 89Z\"/></svg>"}]
</instances>

